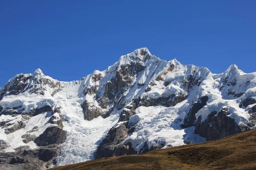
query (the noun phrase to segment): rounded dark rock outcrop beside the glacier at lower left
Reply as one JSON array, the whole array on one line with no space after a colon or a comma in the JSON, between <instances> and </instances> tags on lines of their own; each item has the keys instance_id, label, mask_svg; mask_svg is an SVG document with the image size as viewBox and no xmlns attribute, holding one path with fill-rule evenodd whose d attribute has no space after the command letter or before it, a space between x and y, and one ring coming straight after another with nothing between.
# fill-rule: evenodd
<instances>
[{"instance_id":1,"label":"rounded dark rock outcrop beside the glacier at lower left","mask_svg":"<svg viewBox=\"0 0 256 170\"><path fill-rule=\"evenodd\" d=\"M67 138L67 132L58 126L50 126L35 139L38 146L47 146L50 144L62 144Z\"/></svg>"}]
</instances>

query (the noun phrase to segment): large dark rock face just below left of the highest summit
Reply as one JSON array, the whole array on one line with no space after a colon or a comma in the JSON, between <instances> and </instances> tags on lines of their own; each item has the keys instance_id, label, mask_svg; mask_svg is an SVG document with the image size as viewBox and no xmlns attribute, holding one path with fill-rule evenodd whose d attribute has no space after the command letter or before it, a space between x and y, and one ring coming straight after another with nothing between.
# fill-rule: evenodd
<instances>
[{"instance_id":1,"label":"large dark rock face just below left of the highest summit","mask_svg":"<svg viewBox=\"0 0 256 170\"><path fill-rule=\"evenodd\" d=\"M145 54L148 55L148 54ZM97 93L97 88L90 88L84 92L84 95L87 94L96 94L96 101L99 103L100 107L94 106L93 103L89 103L87 100L81 105L84 112L84 119L92 120L98 116L107 117L113 111L113 108L118 110L122 109L125 106L125 101L123 95L126 88L134 86L132 81L140 71L143 71L145 66L140 62L131 62L130 64L116 67L115 71L112 74L115 74L115 77L108 81L105 85L103 96L99 96ZM99 81L101 79L100 75L94 75L93 81ZM138 86L143 86L143 84L138 84ZM103 112L102 109L108 108L112 104L111 108L107 112Z\"/></svg>"}]
</instances>

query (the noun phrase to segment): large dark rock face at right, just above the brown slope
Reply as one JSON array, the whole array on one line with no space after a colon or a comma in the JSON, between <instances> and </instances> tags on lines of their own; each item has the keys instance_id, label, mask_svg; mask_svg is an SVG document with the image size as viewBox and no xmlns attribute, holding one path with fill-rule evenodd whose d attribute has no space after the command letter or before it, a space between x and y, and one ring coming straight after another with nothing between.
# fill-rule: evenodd
<instances>
[{"instance_id":1,"label":"large dark rock face at right, just above the brown slope","mask_svg":"<svg viewBox=\"0 0 256 170\"><path fill-rule=\"evenodd\" d=\"M199 117L195 125L195 133L205 137L207 141L213 141L250 130L245 124L237 124L234 119L227 116L229 114L227 108L222 108L220 112L209 114L204 122L201 122Z\"/></svg>"}]
</instances>

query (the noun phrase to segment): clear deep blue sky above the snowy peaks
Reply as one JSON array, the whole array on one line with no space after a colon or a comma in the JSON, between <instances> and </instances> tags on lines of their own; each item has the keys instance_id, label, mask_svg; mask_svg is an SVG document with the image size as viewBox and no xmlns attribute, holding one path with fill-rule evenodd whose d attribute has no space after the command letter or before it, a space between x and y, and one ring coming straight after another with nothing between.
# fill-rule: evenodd
<instances>
[{"instance_id":1,"label":"clear deep blue sky above the snowy peaks","mask_svg":"<svg viewBox=\"0 0 256 170\"><path fill-rule=\"evenodd\" d=\"M61 81L147 47L161 59L256 71L255 0L2 0L0 86L19 73Z\"/></svg>"}]
</instances>

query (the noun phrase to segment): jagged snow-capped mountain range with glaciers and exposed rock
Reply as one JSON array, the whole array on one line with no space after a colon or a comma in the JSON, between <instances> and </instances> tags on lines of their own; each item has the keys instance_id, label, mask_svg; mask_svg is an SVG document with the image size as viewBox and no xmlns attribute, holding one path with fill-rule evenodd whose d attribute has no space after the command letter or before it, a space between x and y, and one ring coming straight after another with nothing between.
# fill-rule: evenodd
<instances>
[{"instance_id":1,"label":"jagged snow-capped mountain range with glaciers and exposed rock","mask_svg":"<svg viewBox=\"0 0 256 170\"><path fill-rule=\"evenodd\" d=\"M256 72L231 65L212 74L159 59L147 48L78 81L61 82L37 69L0 88L2 166L35 159L51 167L141 154L255 125Z\"/></svg>"}]
</instances>

